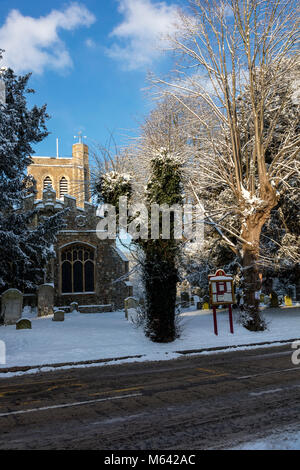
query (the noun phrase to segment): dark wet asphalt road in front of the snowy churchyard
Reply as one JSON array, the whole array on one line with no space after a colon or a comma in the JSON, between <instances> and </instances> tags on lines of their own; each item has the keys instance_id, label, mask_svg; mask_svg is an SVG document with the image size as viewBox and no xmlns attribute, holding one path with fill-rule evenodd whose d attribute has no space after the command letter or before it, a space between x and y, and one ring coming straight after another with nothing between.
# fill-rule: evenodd
<instances>
[{"instance_id":1,"label":"dark wet asphalt road in front of the snowy churchyard","mask_svg":"<svg viewBox=\"0 0 300 470\"><path fill-rule=\"evenodd\" d=\"M0 379L0 449L224 449L298 426L291 345Z\"/></svg>"}]
</instances>

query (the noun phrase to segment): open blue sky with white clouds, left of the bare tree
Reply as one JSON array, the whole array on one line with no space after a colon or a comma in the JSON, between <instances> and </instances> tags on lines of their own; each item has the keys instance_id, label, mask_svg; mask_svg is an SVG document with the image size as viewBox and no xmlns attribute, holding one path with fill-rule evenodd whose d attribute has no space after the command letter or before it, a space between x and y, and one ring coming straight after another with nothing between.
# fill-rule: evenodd
<instances>
[{"instance_id":1,"label":"open blue sky with white clouds, left of the bare tree","mask_svg":"<svg viewBox=\"0 0 300 470\"><path fill-rule=\"evenodd\" d=\"M47 103L50 136L36 155L71 154L74 135L117 143L137 135L153 106L142 91L147 71L170 65L159 37L171 32L184 0L1 0L1 66L33 72L31 103ZM158 48L156 47L158 46Z\"/></svg>"}]
</instances>

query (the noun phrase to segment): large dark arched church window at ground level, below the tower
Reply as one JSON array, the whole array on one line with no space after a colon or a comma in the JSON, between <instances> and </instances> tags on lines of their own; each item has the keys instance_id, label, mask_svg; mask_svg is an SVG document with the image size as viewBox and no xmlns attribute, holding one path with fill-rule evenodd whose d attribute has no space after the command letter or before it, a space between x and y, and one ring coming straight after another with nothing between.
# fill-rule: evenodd
<instances>
[{"instance_id":1,"label":"large dark arched church window at ground level, below the tower","mask_svg":"<svg viewBox=\"0 0 300 470\"><path fill-rule=\"evenodd\" d=\"M94 292L95 250L86 245L71 245L61 253L61 291L63 294Z\"/></svg>"}]
</instances>

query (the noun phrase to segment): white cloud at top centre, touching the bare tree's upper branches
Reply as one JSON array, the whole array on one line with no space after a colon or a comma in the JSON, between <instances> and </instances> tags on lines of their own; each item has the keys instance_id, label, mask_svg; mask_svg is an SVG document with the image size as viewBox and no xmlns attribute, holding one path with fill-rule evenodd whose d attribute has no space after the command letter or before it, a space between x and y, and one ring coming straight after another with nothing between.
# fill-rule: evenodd
<instances>
[{"instance_id":1,"label":"white cloud at top centre, touching the bare tree's upper branches","mask_svg":"<svg viewBox=\"0 0 300 470\"><path fill-rule=\"evenodd\" d=\"M118 0L122 23L111 37L117 41L107 54L128 70L150 65L162 53L162 37L175 31L177 7L151 0Z\"/></svg>"}]
</instances>

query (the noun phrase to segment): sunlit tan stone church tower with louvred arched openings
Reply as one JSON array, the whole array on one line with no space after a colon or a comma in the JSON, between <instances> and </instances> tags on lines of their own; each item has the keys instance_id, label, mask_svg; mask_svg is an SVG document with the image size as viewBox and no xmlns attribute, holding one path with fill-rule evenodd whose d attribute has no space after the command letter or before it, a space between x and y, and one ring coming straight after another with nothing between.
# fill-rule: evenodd
<instances>
[{"instance_id":1,"label":"sunlit tan stone church tower with louvred arched openings","mask_svg":"<svg viewBox=\"0 0 300 470\"><path fill-rule=\"evenodd\" d=\"M31 158L28 174L36 180L37 199L43 199L43 191L51 185L59 199L68 194L76 198L79 207L90 201L89 148L81 139L72 147L72 158Z\"/></svg>"}]
</instances>

